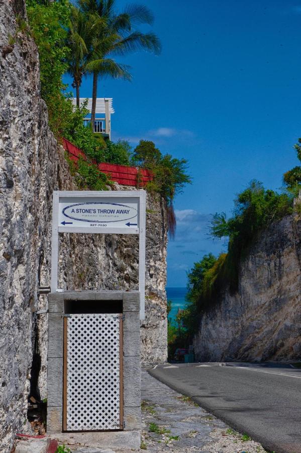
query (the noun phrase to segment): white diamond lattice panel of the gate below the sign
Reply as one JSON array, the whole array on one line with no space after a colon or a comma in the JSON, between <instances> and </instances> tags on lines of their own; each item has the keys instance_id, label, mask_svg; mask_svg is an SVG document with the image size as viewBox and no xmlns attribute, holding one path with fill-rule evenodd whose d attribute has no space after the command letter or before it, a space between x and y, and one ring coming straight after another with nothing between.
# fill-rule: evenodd
<instances>
[{"instance_id":1,"label":"white diamond lattice panel of the gate below the sign","mask_svg":"<svg viewBox=\"0 0 301 453\"><path fill-rule=\"evenodd\" d=\"M67 325L67 430L119 429L119 315L71 315Z\"/></svg>"}]
</instances>

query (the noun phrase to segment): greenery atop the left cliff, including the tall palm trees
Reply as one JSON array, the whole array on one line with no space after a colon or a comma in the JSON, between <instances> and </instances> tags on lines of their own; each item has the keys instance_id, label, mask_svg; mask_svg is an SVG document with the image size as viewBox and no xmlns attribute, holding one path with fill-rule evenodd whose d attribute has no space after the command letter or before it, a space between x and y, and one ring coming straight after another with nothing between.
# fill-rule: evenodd
<instances>
[{"instance_id":1,"label":"greenery atop the left cliff, including the tall palm trees","mask_svg":"<svg viewBox=\"0 0 301 453\"><path fill-rule=\"evenodd\" d=\"M108 176L100 172L92 160L150 170L153 181L146 189L159 193L166 200L170 233L173 234L173 198L191 182L186 174L187 161L174 159L170 154L162 155L151 141L141 140L134 150L125 140L105 141L102 134L95 134L90 126L84 126L83 118L89 112L86 103L79 106L79 89L85 75L93 77L91 117L99 77L131 78L129 67L116 63L112 55L125 55L140 49L160 52L158 37L136 28L138 24L151 24L152 13L143 5L132 5L118 14L114 0L80 0L77 7L69 0L52 3L27 0L27 12L39 50L41 96L48 107L50 128L58 140L67 138L90 159L89 165L83 161L72 165L73 173L80 175L77 178L80 187L99 190L110 184ZM67 87L62 83L62 76L66 72L73 78L77 107L72 105L71 94L65 93Z\"/></svg>"}]
</instances>

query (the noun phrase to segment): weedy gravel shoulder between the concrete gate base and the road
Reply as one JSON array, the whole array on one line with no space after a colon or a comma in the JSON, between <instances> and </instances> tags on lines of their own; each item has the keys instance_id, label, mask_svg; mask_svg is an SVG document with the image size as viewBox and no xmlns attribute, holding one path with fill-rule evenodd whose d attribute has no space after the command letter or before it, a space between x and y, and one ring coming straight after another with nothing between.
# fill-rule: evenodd
<instances>
[{"instance_id":1,"label":"weedy gravel shoulder between the concrete gate base and the road","mask_svg":"<svg viewBox=\"0 0 301 453\"><path fill-rule=\"evenodd\" d=\"M142 370L142 444L150 452L264 453L263 447ZM140 450L142 451L142 450Z\"/></svg>"}]
</instances>

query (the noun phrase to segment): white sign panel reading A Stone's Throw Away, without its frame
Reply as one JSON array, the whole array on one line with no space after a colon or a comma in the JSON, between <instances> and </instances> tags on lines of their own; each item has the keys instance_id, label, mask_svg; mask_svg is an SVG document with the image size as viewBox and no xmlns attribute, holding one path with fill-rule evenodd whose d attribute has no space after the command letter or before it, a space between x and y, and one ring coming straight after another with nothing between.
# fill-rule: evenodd
<instances>
[{"instance_id":1,"label":"white sign panel reading A Stone's Throw Away, without its frame","mask_svg":"<svg viewBox=\"0 0 301 453\"><path fill-rule=\"evenodd\" d=\"M58 226L66 231L70 227L126 228L139 230L139 198L79 197L59 199ZM92 233L92 231L91 231Z\"/></svg>"}]
</instances>

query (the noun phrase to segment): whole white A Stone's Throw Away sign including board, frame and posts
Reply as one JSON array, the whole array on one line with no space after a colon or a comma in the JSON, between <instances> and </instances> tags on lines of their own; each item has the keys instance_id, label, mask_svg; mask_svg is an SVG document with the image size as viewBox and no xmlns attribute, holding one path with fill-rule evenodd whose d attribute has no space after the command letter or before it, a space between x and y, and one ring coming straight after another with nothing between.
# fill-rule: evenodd
<instances>
[{"instance_id":1,"label":"whole white A Stone's Throw Away sign including board, frame and posts","mask_svg":"<svg viewBox=\"0 0 301 453\"><path fill-rule=\"evenodd\" d=\"M54 191L51 292L58 288L59 233L139 235L140 318L145 305L145 191Z\"/></svg>"}]
</instances>

